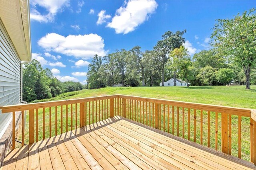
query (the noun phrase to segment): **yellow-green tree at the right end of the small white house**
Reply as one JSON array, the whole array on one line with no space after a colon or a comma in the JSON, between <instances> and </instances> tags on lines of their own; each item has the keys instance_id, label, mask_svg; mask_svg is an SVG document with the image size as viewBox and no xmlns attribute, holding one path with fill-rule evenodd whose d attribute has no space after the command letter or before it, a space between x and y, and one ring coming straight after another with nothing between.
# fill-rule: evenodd
<instances>
[{"instance_id":1,"label":"yellow-green tree at the right end of the small white house","mask_svg":"<svg viewBox=\"0 0 256 170\"><path fill-rule=\"evenodd\" d=\"M190 76L189 67L191 66L188 49L181 45L179 48L174 49L170 53L170 59L173 61L172 65L176 66L176 68L180 70L180 75L182 78L186 79L186 84L188 87L188 78Z\"/></svg>"}]
</instances>

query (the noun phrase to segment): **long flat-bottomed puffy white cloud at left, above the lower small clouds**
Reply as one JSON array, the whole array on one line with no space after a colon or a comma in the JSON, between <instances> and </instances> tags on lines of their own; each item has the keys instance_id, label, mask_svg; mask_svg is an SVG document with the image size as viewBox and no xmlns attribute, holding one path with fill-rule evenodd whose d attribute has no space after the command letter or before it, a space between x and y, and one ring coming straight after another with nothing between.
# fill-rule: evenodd
<instances>
[{"instance_id":1,"label":"long flat-bottomed puffy white cloud at left, above the lower small clouds","mask_svg":"<svg viewBox=\"0 0 256 170\"><path fill-rule=\"evenodd\" d=\"M97 34L68 35L48 33L38 41L46 51L54 51L81 59L93 58L95 54L105 56L104 39Z\"/></svg>"}]
</instances>

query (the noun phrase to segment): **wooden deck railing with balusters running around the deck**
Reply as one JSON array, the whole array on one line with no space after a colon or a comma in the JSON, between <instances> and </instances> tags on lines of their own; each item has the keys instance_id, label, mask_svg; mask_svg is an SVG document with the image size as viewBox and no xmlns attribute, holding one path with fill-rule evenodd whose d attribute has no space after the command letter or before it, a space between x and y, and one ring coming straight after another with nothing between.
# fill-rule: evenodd
<instances>
[{"instance_id":1,"label":"wooden deck railing with balusters running around the deck","mask_svg":"<svg viewBox=\"0 0 256 170\"><path fill-rule=\"evenodd\" d=\"M22 113L22 146L120 115L256 165L256 110L111 95L0 107ZM28 129L24 111L28 110ZM15 148L15 124L12 146ZM243 146L243 147L242 147Z\"/></svg>"}]
</instances>

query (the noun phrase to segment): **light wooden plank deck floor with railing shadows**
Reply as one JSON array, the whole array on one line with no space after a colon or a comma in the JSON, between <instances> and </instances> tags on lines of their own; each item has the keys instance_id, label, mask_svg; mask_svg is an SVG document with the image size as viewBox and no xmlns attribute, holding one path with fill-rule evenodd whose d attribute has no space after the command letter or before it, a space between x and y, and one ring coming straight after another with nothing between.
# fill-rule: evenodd
<instances>
[{"instance_id":1,"label":"light wooden plank deck floor with railing shadows","mask_svg":"<svg viewBox=\"0 0 256 170\"><path fill-rule=\"evenodd\" d=\"M10 151L1 169L256 169L240 158L116 116Z\"/></svg>"}]
</instances>

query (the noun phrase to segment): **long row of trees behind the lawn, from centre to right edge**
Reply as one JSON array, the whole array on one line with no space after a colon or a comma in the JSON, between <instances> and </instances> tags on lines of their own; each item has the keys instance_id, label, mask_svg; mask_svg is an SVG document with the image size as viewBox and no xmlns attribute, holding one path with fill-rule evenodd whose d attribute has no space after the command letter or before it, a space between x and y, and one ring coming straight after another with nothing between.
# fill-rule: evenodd
<instances>
[{"instance_id":1,"label":"long row of trees behind the lawn, from centre to right edge","mask_svg":"<svg viewBox=\"0 0 256 170\"><path fill-rule=\"evenodd\" d=\"M212 46L192 58L183 46L186 30L167 31L152 50L140 46L115 50L104 57L95 55L88 67L87 88L122 86L164 86L180 78L193 86L226 85L231 82L256 84L255 9L234 19L218 20L213 28ZM175 81L174 81L175 83ZM175 86L175 84L174 84Z\"/></svg>"}]
</instances>

